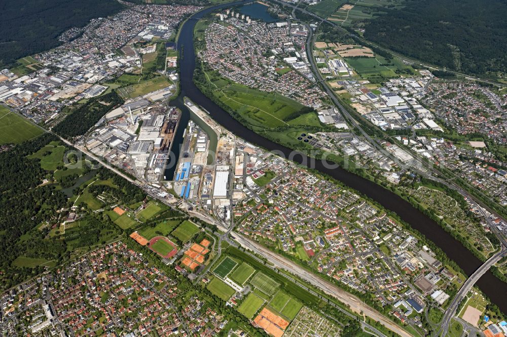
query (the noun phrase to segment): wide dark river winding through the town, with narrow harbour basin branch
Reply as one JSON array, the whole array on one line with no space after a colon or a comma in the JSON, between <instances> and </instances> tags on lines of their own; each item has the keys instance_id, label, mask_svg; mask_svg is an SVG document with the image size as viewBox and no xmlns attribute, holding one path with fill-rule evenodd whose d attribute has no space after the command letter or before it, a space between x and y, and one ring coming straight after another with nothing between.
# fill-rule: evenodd
<instances>
[{"instance_id":1,"label":"wide dark river winding through the town, with narrow harbour basin branch","mask_svg":"<svg viewBox=\"0 0 507 337\"><path fill-rule=\"evenodd\" d=\"M180 53L183 52L183 58L180 60L180 94L178 98L172 101L172 105L182 109L183 116L179 123L179 128L176 133L175 142L182 142L183 130L185 129L189 120L189 111L183 104L183 97L189 97L196 104L204 107L217 122L222 124L229 131L245 139L246 141L264 147L269 151L278 151L288 157L289 153L293 152L291 149L282 145L276 144L255 132L244 127L240 122L234 119L228 112L216 105L213 101L207 98L195 86L193 82L193 73L195 69L195 51L193 43L194 26L196 22L203 18L205 15L220 8L229 8L236 5L247 4L251 1L237 1L228 4L216 5L209 7L201 12L195 13L191 16L182 27L179 38L177 41L177 48ZM180 146L174 144L173 152L179 154ZM293 159L298 163L309 162L308 158L304 155L297 156ZM169 165L174 166L174 165ZM359 191L360 193L375 200L383 207L391 210L400 216L402 220L409 223L414 229L425 235L429 240L433 241L439 246L447 256L454 260L467 275L471 275L478 269L482 262L476 258L468 249L466 249L459 241L455 240L449 233L444 231L440 225L432 221L419 210L414 208L409 202L401 197L384 189L383 187L357 175L354 175L343 168L330 169L319 160L315 161L314 168L326 175L329 175L336 180L341 181L345 185ZM174 174L174 167L168 168L166 171L167 179L172 179ZM169 175L171 174L172 175ZM477 285L484 291L491 301L496 304L504 313L507 313L507 284L500 281L488 271L477 282Z\"/></svg>"}]
</instances>

